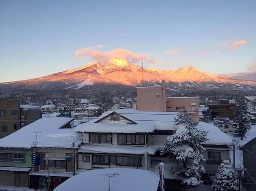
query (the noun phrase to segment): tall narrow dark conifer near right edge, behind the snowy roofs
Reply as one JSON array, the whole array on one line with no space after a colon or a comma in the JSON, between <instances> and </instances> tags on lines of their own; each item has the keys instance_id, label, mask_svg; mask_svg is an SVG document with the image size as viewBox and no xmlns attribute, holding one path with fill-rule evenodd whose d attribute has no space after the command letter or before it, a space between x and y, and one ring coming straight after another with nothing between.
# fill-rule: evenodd
<instances>
[{"instance_id":1,"label":"tall narrow dark conifer near right edge, behind the snowy roofs","mask_svg":"<svg viewBox=\"0 0 256 191\"><path fill-rule=\"evenodd\" d=\"M251 120L247 109L247 104L245 103L244 99L240 97L236 103L236 114L233 121L239 126L238 133L241 136L241 140L245 136L245 133L251 129Z\"/></svg>"}]
</instances>

